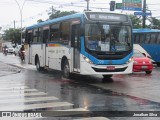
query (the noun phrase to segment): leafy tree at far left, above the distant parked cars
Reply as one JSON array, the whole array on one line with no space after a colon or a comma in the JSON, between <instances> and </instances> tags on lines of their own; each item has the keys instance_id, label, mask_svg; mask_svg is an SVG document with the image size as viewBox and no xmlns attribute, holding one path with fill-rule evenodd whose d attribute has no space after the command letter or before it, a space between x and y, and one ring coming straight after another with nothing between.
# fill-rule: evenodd
<instances>
[{"instance_id":1,"label":"leafy tree at far left, above the distant parked cars","mask_svg":"<svg viewBox=\"0 0 160 120\"><path fill-rule=\"evenodd\" d=\"M4 31L3 40L10 41L14 44L21 43L21 29L10 28Z\"/></svg>"}]
</instances>

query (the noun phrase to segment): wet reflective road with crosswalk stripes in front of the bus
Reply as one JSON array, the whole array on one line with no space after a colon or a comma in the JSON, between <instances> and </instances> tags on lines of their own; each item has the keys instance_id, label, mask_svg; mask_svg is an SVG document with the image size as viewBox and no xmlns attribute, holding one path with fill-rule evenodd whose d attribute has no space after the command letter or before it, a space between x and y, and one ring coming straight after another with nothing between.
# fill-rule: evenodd
<instances>
[{"instance_id":1,"label":"wet reflective road with crosswalk stripes in front of the bus","mask_svg":"<svg viewBox=\"0 0 160 120\"><path fill-rule=\"evenodd\" d=\"M133 111L128 114L134 114L136 111L146 111L147 114L150 113L149 111L160 111L160 79L158 78L160 68L155 68L152 75L144 73L115 75L108 82L102 82L101 76L73 75L71 79L64 79L57 71L39 73L34 66L21 63L19 58L13 55L3 56L0 53L0 58L3 63L19 66L21 70L18 72L19 69L14 68L12 73L15 74L0 76L0 111L61 110L58 113L74 116L54 117L58 120L84 119L84 117L89 117L88 119L91 120L93 118L137 120L137 117L126 118L123 114L127 111ZM124 112L117 115L115 111ZM56 116L53 112L48 114ZM116 115L118 117L114 117ZM138 117L138 119L160 118Z\"/></svg>"}]
</instances>

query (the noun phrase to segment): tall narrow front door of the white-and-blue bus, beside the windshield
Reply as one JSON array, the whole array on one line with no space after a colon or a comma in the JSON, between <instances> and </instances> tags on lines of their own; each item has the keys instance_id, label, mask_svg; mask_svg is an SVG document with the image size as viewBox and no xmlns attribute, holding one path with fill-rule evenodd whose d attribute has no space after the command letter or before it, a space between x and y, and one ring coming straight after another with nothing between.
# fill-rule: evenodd
<instances>
[{"instance_id":1,"label":"tall narrow front door of the white-and-blue bus, beside the windshield","mask_svg":"<svg viewBox=\"0 0 160 120\"><path fill-rule=\"evenodd\" d=\"M72 25L73 71L80 72L80 25Z\"/></svg>"}]
</instances>

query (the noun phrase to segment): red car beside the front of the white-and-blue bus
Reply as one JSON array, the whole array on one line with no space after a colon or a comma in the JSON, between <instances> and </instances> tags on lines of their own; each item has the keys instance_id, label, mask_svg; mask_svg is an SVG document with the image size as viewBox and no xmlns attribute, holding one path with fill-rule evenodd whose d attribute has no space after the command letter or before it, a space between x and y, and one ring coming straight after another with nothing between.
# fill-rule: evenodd
<instances>
[{"instance_id":1,"label":"red car beside the front of the white-and-blue bus","mask_svg":"<svg viewBox=\"0 0 160 120\"><path fill-rule=\"evenodd\" d=\"M134 49L133 61L133 72L145 71L146 74L152 73L153 63L151 59L136 49Z\"/></svg>"}]
</instances>

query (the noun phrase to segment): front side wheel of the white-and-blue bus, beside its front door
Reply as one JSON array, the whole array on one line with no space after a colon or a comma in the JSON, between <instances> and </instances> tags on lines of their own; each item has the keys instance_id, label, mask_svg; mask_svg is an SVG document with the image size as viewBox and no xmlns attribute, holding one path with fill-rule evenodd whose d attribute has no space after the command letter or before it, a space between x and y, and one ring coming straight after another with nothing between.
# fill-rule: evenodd
<instances>
[{"instance_id":1,"label":"front side wheel of the white-and-blue bus, beside its front door","mask_svg":"<svg viewBox=\"0 0 160 120\"><path fill-rule=\"evenodd\" d=\"M66 60L63 64L63 76L65 78L69 78L70 77L70 68L69 68L69 63Z\"/></svg>"}]
</instances>

